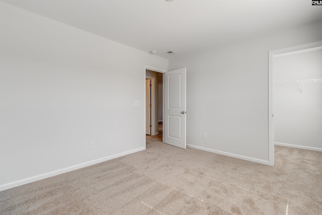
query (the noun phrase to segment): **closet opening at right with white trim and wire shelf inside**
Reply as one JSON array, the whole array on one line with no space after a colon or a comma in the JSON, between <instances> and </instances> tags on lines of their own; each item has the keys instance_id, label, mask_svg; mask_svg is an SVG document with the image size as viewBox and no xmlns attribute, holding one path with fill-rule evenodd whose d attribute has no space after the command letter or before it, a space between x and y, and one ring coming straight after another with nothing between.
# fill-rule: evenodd
<instances>
[{"instance_id":1,"label":"closet opening at right with white trim and wire shelf inside","mask_svg":"<svg viewBox=\"0 0 322 215\"><path fill-rule=\"evenodd\" d=\"M274 146L322 151L322 41L269 52L269 152Z\"/></svg>"}]
</instances>

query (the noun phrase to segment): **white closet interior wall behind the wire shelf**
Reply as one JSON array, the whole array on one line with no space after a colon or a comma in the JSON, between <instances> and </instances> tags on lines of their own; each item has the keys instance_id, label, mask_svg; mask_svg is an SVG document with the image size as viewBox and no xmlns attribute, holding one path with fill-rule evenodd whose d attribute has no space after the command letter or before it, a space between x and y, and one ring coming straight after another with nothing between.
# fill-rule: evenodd
<instances>
[{"instance_id":1,"label":"white closet interior wall behind the wire shelf","mask_svg":"<svg viewBox=\"0 0 322 215\"><path fill-rule=\"evenodd\" d=\"M274 82L322 79L322 50L274 58ZM274 135L279 144L322 151L322 82L275 85Z\"/></svg>"}]
</instances>

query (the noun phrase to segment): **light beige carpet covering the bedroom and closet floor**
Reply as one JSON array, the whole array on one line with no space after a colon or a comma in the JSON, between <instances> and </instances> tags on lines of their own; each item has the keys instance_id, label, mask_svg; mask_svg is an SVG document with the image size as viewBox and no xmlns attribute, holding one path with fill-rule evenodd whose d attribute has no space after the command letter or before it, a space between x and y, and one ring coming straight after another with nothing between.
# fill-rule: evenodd
<instances>
[{"instance_id":1,"label":"light beige carpet covering the bedroom and closet floor","mask_svg":"<svg viewBox=\"0 0 322 215\"><path fill-rule=\"evenodd\" d=\"M0 214L322 214L322 153L275 147L275 166L172 147L0 192Z\"/></svg>"}]
</instances>

